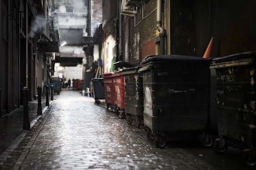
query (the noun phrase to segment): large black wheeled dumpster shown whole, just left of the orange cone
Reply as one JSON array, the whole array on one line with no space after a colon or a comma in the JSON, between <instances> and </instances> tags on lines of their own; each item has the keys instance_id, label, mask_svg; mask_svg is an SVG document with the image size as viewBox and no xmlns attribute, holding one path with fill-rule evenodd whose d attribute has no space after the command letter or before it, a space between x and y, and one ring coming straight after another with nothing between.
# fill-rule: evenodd
<instances>
[{"instance_id":1,"label":"large black wheeled dumpster shown whole, just left of the orange cone","mask_svg":"<svg viewBox=\"0 0 256 170\"><path fill-rule=\"evenodd\" d=\"M187 139L207 127L211 59L148 56L142 62L144 126L164 148L166 139Z\"/></svg>"}]
</instances>

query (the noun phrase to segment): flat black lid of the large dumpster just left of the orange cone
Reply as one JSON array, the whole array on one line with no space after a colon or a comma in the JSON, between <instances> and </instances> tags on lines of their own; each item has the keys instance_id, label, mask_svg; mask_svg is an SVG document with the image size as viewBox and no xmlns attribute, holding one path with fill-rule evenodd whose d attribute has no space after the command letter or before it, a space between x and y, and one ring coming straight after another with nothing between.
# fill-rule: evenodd
<instances>
[{"instance_id":1,"label":"flat black lid of the large dumpster just left of the orange cone","mask_svg":"<svg viewBox=\"0 0 256 170\"><path fill-rule=\"evenodd\" d=\"M208 61L210 62L212 58L205 59L195 56L183 56L183 55L159 55L159 56L147 56L144 58L140 64L145 64L150 61Z\"/></svg>"}]
</instances>

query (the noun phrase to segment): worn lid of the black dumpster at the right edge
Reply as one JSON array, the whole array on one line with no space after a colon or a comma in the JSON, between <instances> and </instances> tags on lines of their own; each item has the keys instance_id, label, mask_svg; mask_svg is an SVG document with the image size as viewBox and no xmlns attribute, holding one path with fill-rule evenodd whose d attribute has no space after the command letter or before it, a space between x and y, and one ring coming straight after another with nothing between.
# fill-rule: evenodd
<instances>
[{"instance_id":1,"label":"worn lid of the black dumpster at the right edge","mask_svg":"<svg viewBox=\"0 0 256 170\"><path fill-rule=\"evenodd\" d=\"M247 65L256 59L256 52L245 52L232 54L225 57L218 57L212 60L210 68Z\"/></svg>"}]
</instances>

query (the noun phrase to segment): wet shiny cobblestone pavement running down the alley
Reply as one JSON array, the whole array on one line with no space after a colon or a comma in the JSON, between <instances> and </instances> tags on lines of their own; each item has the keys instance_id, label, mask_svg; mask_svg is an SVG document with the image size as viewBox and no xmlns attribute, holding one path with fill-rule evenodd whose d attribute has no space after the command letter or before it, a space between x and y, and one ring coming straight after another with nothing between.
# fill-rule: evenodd
<instances>
[{"instance_id":1,"label":"wet shiny cobblestone pavement running down the alley","mask_svg":"<svg viewBox=\"0 0 256 170\"><path fill-rule=\"evenodd\" d=\"M73 90L27 138L13 169L215 169L182 149L156 148L143 129Z\"/></svg>"}]
</instances>

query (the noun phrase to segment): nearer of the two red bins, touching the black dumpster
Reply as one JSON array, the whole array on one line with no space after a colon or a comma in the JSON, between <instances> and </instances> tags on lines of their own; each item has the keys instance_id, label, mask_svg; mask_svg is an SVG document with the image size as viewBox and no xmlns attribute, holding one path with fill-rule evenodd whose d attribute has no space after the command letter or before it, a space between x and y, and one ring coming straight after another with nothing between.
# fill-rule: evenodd
<instances>
[{"instance_id":1,"label":"nearer of the two red bins, touching the black dumpster","mask_svg":"<svg viewBox=\"0 0 256 170\"><path fill-rule=\"evenodd\" d=\"M120 118L125 116L124 113L124 79L123 75L119 71L116 71L113 77L113 96L116 106L116 113Z\"/></svg>"}]
</instances>

